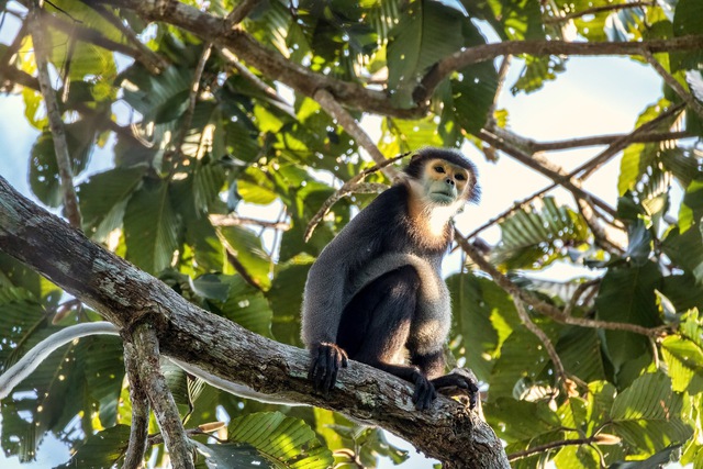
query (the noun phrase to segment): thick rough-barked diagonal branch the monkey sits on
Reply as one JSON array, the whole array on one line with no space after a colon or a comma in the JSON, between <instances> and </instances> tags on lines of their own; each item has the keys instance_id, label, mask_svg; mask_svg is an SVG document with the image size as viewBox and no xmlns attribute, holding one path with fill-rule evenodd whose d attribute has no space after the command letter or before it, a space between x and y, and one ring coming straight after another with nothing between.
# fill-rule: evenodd
<instances>
[{"instance_id":1,"label":"thick rough-barked diagonal branch the monkey sits on","mask_svg":"<svg viewBox=\"0 0 703 469\"><path fill-rule=\"evenodd\" d=\"M254 334L189 303L166 284L92 243L0 177L0 250L25 263L93 308L131 337L147 322L160 353L257 392L341 412L381 426L444 462L445 468L507 468L491 427L439 397L415 411L412 387L352 362L328 399L308 381L308 354Z\"/></svg>"}]
</instances>

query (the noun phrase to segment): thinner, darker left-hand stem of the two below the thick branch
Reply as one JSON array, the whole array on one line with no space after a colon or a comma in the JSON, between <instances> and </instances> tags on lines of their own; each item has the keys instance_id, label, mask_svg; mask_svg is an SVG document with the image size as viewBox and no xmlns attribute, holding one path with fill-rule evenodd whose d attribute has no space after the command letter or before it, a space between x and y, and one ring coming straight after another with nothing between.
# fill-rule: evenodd
<instances>
[{"instance_id":1,"label":"thinner, darker left-hand stem of the two below the thick branch","mask_svg":"<svg viewBox=\"0 0 703 469\"><path fill-rule=\"evenodd\" d=\"M124 368L130 381L132 423L130 425L130 444L122 468L132 469L140 468L144 464L149 426L149 400L140 380L136 350L134 345L129 342L124 343Z\"/></svg>"}]
</instances>

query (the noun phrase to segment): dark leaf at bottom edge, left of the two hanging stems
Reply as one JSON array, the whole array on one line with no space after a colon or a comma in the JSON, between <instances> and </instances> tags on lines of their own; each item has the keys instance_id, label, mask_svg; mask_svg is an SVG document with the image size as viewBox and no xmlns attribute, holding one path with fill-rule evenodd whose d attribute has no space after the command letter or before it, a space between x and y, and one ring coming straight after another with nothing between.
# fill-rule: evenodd
<instances>
[{"instance_id":1,"label":"dark leaf at bottom edge, left of the two hanging stems","mask_svg":"<svg viewBox=\"0 0 703 469\"><path fill-rule=\"evenodd\" d=\"M68 462L56 469L70 468L109 468L113 467L123 456L130 443L130 427L115 425L94 435L90 435L86 443Z\"/></svg>"}]
</instances>

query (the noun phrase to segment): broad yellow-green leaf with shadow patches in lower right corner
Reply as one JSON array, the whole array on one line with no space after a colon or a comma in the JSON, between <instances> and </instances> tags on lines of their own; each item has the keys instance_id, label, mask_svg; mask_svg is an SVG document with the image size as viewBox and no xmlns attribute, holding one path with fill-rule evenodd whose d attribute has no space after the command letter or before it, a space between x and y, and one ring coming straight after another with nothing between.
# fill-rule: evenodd
<instances>
[{"instance_id":1,"label":"broad yellow-green leaf with shadow patches in lower right corner","mask_svg":"<svg viewBox=\"0 0 703 469\"><path fill-rule=\"evenodd\" d=\"M637 451L660 451L692 434L681 420L681 405L669 377L660 372L644 375L615 398L609 432Z\"/></svg>"}]
</instances>

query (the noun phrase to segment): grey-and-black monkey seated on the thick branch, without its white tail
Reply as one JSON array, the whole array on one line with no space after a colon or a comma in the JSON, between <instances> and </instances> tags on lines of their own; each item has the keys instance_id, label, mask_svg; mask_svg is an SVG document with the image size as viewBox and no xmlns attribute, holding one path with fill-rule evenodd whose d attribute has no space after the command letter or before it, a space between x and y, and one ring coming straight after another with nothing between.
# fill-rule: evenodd
<instances>
[{"instance_id":1,"label":"grey-and-black monkey seated on the thick branch, without its white tail","mask_svg":"<svg viewBox=\"0 0 703 469\"><path fill-rule=\"evenodd\" d=\"M419 411L444 388L476 404L476 382L444 375L450 299L440 268L451 217L478 202L477 176L457 150L421 149L322 250L308 273L301 330L316 392L328 395L354 359L413 383Z\"/></svg>"}]
</instances>

